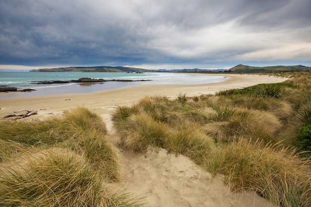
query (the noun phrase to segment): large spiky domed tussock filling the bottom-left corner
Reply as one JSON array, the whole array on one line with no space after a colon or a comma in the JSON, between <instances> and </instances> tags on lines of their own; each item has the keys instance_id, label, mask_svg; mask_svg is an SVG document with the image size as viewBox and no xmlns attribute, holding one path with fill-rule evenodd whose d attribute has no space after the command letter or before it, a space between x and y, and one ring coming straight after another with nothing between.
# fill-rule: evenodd
<instances>
[{"instance_id":1,"label":"large spiky domed tussock filling the bottom-left corner","mask_svg":"<svg viewBox=\"0 0 311 207\"><path fill-rule=\"evenodd\" d=\"M22 164L0 168L0 206L134 207L139 200L113 193L85 157L70 150L26 152Z\"/></svg>"}]
</instances>

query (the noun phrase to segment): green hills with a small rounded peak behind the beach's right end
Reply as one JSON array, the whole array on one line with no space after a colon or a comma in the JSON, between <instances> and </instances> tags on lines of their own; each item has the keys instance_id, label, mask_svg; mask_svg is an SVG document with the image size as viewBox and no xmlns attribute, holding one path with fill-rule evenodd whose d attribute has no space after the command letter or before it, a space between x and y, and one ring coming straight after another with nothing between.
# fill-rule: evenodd
<instances>
[{"instance_id":1,"label":"green hills with a small rounded peak behind the beach's right end","mask_svg":"<svg viewBox=\"0 0 311 207\"><path fill-rule=\"evenodd\" d=\"M262 71L310 71L311 67L307 66L268 66L268 67L253 67L253 66L244 66L237 65L231 69L228 69L227 72L262 72Z\"/></svg>"}]
</instances>

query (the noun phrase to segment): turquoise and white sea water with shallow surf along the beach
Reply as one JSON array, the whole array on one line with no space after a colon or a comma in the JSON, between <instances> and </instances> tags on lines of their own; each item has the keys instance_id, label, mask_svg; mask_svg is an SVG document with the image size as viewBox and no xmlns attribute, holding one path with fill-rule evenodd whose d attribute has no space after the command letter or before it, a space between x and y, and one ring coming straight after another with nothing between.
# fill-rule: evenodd
<instances>
[{"instance_id":1,"label":"turquoise and white sea water with shallow surf along the beach","mask_svg":"<svg viewBox=\"0 0 311 207\"><path fill-rule=\"evenodd\" d=\"M48 80L78 80L89 77L104 80L149 80L103 83L63 83L63 84L34 84L37 81ZM31 88L35 91L20 93L1 93L1 98L16 96L35 96L60 93L88 93L100 90L111 90L127 86L154 84L202 84L223 81L225 76L198 73L175 72L0 72L0 86L17 87L18 89Z\"/></svg>"}]
</instances>

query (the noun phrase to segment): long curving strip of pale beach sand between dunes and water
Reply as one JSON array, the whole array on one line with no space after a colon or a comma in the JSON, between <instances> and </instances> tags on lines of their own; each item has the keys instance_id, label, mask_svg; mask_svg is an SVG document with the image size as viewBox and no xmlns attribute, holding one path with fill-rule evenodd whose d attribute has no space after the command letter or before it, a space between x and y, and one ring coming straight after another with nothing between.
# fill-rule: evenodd
<instances>
[{"instance_id":1,"label":"long curving strip of pale beach sand between dunes and water","mask_svg":"<svg viewBox=\"0 0 311 207\"><path fill-rule=\"evenodd\" d=\"M109 114L119 105L136 103L146 95L175 98L180 93L186 94L186 96L214 94L220 90L243 88L259 83L283 82L288 79L257 74L226 74L224 76L229 78L224 78L220 82L204 84L148 84L89 93L29 95L9 98L0 95L0 118L21 109L36 109L38 110L37 115L24 119L45 119L62 114L64 110L69 110L77 106L85 106L98 114L104 115Z\"/></svg>"}]
</instances>

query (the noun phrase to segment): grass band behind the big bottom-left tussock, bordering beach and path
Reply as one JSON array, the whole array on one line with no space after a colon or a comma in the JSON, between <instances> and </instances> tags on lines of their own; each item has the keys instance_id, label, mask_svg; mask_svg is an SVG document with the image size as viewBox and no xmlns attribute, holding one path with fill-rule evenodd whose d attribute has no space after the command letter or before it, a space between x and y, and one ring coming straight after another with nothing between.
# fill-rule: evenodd
<instances>
[{"instance_id":1,"label":"grass band behind the big bottom-left tussock, bordering beach and path","mask_svg":"<svg viewBox=\"0 0 311 207\"><path fill-rule=\"evenodd\" d=\"M106 138L107 129L100 116L84 107L66 111L62 118L38 122L0 122L0 160L20 148L62 146L84 155L95 169L112 180L120 177L121 155Z\"/></svg>"}]
</instances>

